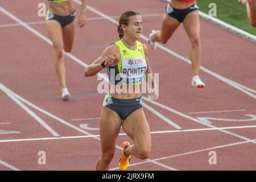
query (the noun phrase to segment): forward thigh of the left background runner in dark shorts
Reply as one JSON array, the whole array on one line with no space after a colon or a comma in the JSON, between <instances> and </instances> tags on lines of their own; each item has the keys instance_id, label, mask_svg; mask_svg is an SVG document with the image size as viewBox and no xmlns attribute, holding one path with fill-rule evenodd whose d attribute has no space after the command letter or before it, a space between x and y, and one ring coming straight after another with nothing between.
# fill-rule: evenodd
<instances>
[{"instance_id":1,"label":"forward thigh of the left background runner in dark shorts","mask_svg":"<svg viewBox=\"0 0 256 182\"><path fill-rule=\"evenodd\" d=\"M46 28L53 47L63 48L62 28L56 20L46 20Z\"/></svg>"}]
</instances>

